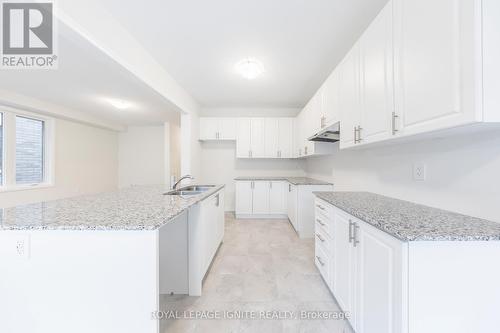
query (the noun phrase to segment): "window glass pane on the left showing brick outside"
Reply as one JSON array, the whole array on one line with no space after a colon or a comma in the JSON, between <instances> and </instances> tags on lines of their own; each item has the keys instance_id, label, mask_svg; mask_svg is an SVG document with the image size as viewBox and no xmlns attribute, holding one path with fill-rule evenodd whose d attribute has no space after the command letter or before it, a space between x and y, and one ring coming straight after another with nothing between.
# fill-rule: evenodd
<instances>
[{"instance_id":1,"label":"window glass pane on the left showing brick outside","mask_svg":"<svg viewBox=\"0 0 500 333\"><path fill-rule=\"evenodd\" d=\"M16 116L16 183L43 183L44 122Z\"/></svg>"}]
</instances>

